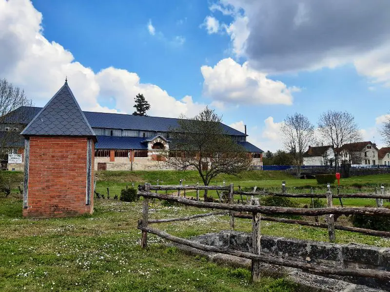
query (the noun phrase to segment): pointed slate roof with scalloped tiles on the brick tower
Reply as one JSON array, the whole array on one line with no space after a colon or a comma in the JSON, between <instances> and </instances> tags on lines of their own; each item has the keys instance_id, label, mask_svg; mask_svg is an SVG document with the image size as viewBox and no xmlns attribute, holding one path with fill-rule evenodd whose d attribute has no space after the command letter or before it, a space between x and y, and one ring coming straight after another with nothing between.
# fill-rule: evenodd
<instances>
[{"instance_id":1,"label":"pointed slate roof with scalloped tiles on the brick tower","mask_svg":"<svg viewBox=\"0 0 390 292\"><path fill-rule=\"evenodd\" d=\"M96 138L67 81L20 134Z\"/></svg>"}]
</instances>

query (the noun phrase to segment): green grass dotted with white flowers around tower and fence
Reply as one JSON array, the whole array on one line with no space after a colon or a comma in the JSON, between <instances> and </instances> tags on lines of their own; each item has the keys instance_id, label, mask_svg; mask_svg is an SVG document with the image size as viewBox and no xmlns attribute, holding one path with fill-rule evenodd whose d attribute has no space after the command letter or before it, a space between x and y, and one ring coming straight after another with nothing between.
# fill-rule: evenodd
<instances>
[{"instance_id":1,"label":"green grass dotted with white flowers around tower and fence","mask_svg":"<svg viewBox=\"0 0 390 292\"><path fill-rule=\"evenodd\" d=\"M17 174L16 174L17 175ZM150 236L147 251L139 248L142 201L114 201L115 193L126 184L150 182L161 184L196 183L195 172L98 172L97 190L110 187L111 200L95 200L95 213L68 219L23 219L21 196L14 190L9 198L0 198L0 291L235 291L287 292L300 291L284 279L262 277L260 283L249 282L250 272L209 263L201 257L185 255L162 245ZM343 181L353 183L388 183L390 175L355 177ZM288 185L301 182L284 173L254 171L239 177L221 176L216 182L234 185L278 187L281 180ZM261 184L263 183L263 184ZM305 185L304 184L304 185ZM353 188L351 188L353 189ZM317 191L317 190L316 190ZM322 190L318 190L322 191ZM358 191L355 189L355 191ZM190 195L190 194L189 194ZM305 204L308 199L296 199ZM348 199L351 205L374 204L369 199ZM310 202L310 201L309 201ZM338 200L335 200L335 203ZM345 201L347 202L347 201ZM158 200L150 205L151 218L171 218L206 212L205 209L163 206ZM323 218L320 218L323 221ZM349 224L340 218L342 224ZM158 228L173 235L191 237L229 228L227 216L212 216L188 222L159 224ZM236 229L250 231L251 222L236 219ZM312 240L328 240L326 229L262 221L262 234ZM387 238L370 237L336 230L338 243L364 243L390 247Z\"/></svg>"}]
</instances>

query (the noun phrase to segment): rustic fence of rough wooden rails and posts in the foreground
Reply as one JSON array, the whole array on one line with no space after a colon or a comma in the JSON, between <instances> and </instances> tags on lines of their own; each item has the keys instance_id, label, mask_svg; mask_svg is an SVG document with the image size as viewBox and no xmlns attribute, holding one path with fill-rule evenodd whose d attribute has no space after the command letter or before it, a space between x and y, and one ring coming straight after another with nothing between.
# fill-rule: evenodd
<instances>
[{"instance_id":1,"label":"rustic fence of rough wooden rails and posts in the foreground","mask_svg":"<svg viewBox=\"0 0 390 292\"><path fill-rule=\"evenodd\" d=\"M177 196L174 195L168 195L168 194L160 194L153 191L171 191L171 190L177 190L178 194ZM189 200L187 198L183 198L180 196L180 191L183 190L184 193L186 190L196 190L197 191L197 200ZM198 191L199 190L218 190L218 191L228 191L229 192L229 199L228 203L215 203L215 202L204 202L199 201ZM292 260L286 260L282 258L277 257L271 257L267 256L265 254L261 253L261 246L260 246L260 221L261 220L268 220L268 221L276 221L276 222L283 222L283 223L293 223L293 224L300 224L300 225L306 225L306 226L313 226L313 227L320 227L320 228L327 228L329 239L331 242L335 241L335 235L334 235L334 229L339 230L347 230L347 231L353 231L353 232L359 232L363 234L369 234L373 236L382 236L382 237L390 237L390 232L384 232L384 231L375 231L370 229L363 229L363 228L356 228L356 227L349 227L349 226L341 226L341 225L334 225L334 215L368 215L368 216L386 216L390 217L390 209L387 208L367 208L367 207L333 207L332 206L332 193L330 190L327 191L324 197L327 198L327 207L326 208L290 208L290 207L273 207L273 206L260 206L259 199L251 198L251 204L234 204L233 196L234 194L238 195L245 195L250 194L251 196L254 196L258 193L248 193L248 192L241 192L241 191L234 191L234 185L231 183L229 186L203 186L203 185L150 185L149 183L145 183L145 185L139 185L138 186L138 195L144 198L143 201L143 208L142 208L142 219L138 221L138 229L142 231L142 238L141 238L141 247L146 248L147 247L147 234L152 233L159 237L162 237L164 239L187 245L190 247L193 247L195 249L199 249L202 251L208 251L208 252L216 252L216 253L222 253L226 255L233 255L233 256L240 256L244 258L248 258L252 260L252 279L253 281L257 281L260 277L260 262L275 264L275 265L281 265L286 267L292 267L292 268L298 268L303 269L305 271L318 273L318 274L331 274L331 275L341 275L341 276L362 276L362 277L371 277L371 278L377 278L381 280L390 280L390 272L386 271L379 271L379 270L372 270L372 269L339 269L339 268L333 268L333 267L324 267L324 266L318 266L314 264L309 263L303 263L298 261L292 261ZM317 194L287 194L287 193L271 193L271 195L281 195L287 196L287 195L305 195L302 198L310 198L307 195L317 195ZM185 194L184 194L185 195ZM353 198L352 194L350 194ZM363 195L363 194L360 194ZM374 197L372 197L372 196ZM374 198L374 199L390 199L389 195L384 194L370 194L371 197L368 198ZM386 197L385 197L386 196ZM287 196L288 197L288 196ZM297 196L294 196L297 197ZM317 197L315 197L317 198ZM360 198L360 197L359 197ZM210 213L205 214L198 214L188 217L182 217L182 218L173 218L173 219L148 219L149 214L149 199L160 199L160 200L167 200L167 201L175 201L178 203L181 203L185 206L194 206L198 208L207 208L207 209L217 209L217 210L223 210L223 211L214 211ZM246 212L246 213L237 213L237 212ZM197 243L195 241L191 241L188 239L180 238L172 236L166 232L163 232L161 230L158 230L156 228L150 227L148 224L152 223L161 223L161 222L171 222L171 221L179 221L179 220L190 220L195 218L201 218L201 217L207 217L212 215L219 215L219 214L229 214L230 216L230 228L234 229L234 218L246 218L246 219L252 219L252 236L253 236L253 246L252 250L253 253L247 253L247 252L241 252L233 249L226 249L226 248L218 248L215 246L209 246ZM286 215L302 215L302 216L321 216L326 215L327 216L327 224L318 223L318 222L311 222L311 221L305 221L305 220L293 220L293 219L284 219L284 218L273 218L273 217L263 217L261 214L265 215L274 215L274 214L286 214Z\"/></svg>"}]
</instances>

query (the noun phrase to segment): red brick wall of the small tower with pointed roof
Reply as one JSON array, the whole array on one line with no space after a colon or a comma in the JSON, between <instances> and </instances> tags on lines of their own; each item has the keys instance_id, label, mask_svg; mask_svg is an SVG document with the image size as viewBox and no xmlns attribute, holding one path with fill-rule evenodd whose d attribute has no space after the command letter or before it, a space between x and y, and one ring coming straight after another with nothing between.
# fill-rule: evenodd
<instances>
[{"instance_id":1,"label":"red brick wall of the small tower with pointed roof","mask_svg":"<svg viewBox=\"0 0 390 292\"><path fill-rule=\"evenodd\" d=\"M91 204L86 205L87 138L30 137L28 208L23 216L92 213L93 177L92 171Z\"/></svg>"}]
</instances>

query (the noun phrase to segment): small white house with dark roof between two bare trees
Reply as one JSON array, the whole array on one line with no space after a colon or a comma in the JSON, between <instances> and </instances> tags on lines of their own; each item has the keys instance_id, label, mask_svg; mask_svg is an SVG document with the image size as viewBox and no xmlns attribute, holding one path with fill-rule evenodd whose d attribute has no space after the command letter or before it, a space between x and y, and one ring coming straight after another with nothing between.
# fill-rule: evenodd
<instances>
[{"instance_id":1,"label":"small white house with dark roof between two bare trees","mask_svg":"<svg viewBox=\"0 0 390 292\"><path fill-rule=\"evenodd\" d=\"M309 146L303 154L303 165L329 165L333 166L335 161L332 146Z\"/></svg>"}]
</instances>

